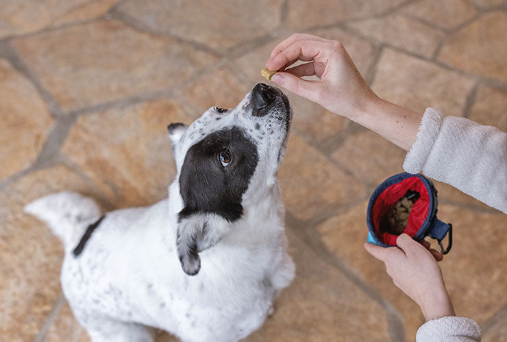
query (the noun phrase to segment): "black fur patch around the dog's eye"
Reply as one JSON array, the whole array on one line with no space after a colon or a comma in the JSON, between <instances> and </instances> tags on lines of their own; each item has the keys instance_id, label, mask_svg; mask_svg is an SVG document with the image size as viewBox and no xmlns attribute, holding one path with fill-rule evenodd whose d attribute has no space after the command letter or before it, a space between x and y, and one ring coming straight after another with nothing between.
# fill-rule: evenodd
<instances>
[{"instance_id":1,"label":"black fur patch around the dog's eye","mask_svg":"<svg viewBox=\"0 0 507 342\"><path fill-rule=\"evenodd\" d=\"M229 150L232 160L223 166L219 153ZM179 218L193 213L215 213L234 221L243 215L241 198L259 161L257 147L238 127L211 133L186 153L180 174L184 208Z\"/></svg>"}]
</instances>

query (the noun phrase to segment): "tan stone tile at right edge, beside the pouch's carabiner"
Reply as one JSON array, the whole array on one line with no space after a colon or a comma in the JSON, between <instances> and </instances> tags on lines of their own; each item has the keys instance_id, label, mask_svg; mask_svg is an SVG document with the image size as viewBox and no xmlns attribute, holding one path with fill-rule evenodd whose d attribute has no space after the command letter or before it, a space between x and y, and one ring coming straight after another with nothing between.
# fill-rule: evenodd
<instances>
[{"instance_id":1,"label":"tan stone tile at right edge, beside the pouch's carabiner","mask_svg":"<svg viewBox=\"0 0 507 342\"><path fill-rule=\"evenodd\" d=\"M439 205L438 217L454 228L441 267L456 313L482 324L507 304L507 216Z\"/></svg>"}]
</instances>

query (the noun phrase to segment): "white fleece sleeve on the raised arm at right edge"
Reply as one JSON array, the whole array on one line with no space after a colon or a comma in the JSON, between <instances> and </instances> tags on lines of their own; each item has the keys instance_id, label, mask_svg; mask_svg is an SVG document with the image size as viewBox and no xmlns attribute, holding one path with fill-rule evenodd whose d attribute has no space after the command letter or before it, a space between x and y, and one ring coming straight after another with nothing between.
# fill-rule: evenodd
<instances>
[{"instance_id":1,"label":"white fleece sleeve on the raised arm at right edge","mask_svg":"<svg viewBox=\"0 0 507 342\"><path fill-rule=\"evenodd\" d=\"M403 168L507 213L507 133L495 127L428 108Z\"/></svg>"}]
</instances>

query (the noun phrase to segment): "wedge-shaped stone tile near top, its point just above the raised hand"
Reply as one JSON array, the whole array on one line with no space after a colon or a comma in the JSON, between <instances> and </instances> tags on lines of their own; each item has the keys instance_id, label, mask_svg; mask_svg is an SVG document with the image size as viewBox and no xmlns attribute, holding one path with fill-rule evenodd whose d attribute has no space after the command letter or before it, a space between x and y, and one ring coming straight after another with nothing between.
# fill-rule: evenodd
<instances>
[{"instance_id":1,"label":"wedge-shaped stone tile near top, its point just above the raised hand","mask_svg":"<svg viewBox=\"0 0 507 342\"><path fill-rule=\"evenodd\" d=\"M413 18L391 14L347 24L347 27L380 42L430 58L444 38L443 31Z\"/></svg>"}]
</instances>

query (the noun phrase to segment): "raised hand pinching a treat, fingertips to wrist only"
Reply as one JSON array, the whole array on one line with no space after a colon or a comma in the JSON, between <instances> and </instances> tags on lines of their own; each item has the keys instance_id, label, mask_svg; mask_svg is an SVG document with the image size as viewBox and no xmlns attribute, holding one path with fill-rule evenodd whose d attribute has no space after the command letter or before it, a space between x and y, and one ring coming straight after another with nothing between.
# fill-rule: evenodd
<instances>
[{"instance_id":1,"label":"raised hand pinching a treat, fingertips to wrist only","mask_svg":"<svg viewBox=\"0 0 507 342\"><path fill-rule=\"evenodd\" d=\"M286 69L297 60L311 62ZM293 34L273 49L266 66L269 70L280 70L271 81L282 88L352 120L371 111L369 108L380 101L360 75L343 44L336 40ZM301 79L312 75L320 80Z\"/></svg>"}]
</instances>

